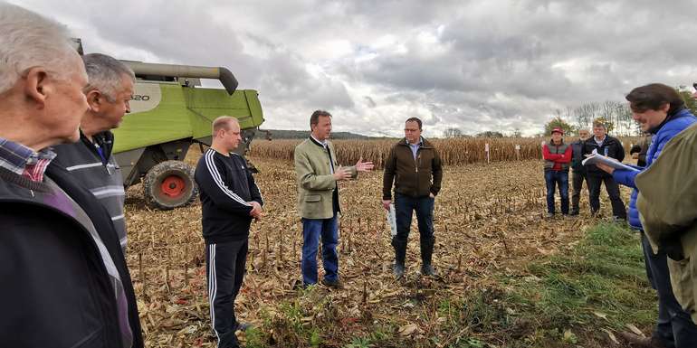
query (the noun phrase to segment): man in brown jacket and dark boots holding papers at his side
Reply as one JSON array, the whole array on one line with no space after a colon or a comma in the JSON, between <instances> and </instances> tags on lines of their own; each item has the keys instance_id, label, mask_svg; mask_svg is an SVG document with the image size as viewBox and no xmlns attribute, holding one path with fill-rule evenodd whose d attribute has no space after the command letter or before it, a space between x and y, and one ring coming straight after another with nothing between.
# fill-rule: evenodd
<instances>
[{"instance_id":1,"label":"man in brown jacket and dark boots holding papers at his side","mask_svg":"<svg viewBox=\"0 0 697 348\"><path fill-rule=\"evenodd\" d=\"M392 183L395 183L396 236L392 238L395 248L396 278L404 276L406 242L412 212L416 211L421 241L421 274L434 276L431 264L434 252L434 200L441 190L443 166L433 145L421 136L422 123L418 118L405 122L405 138L390 150L385 159L382 203L386 210L392 204Z\"/></svg>"}]
</instances>

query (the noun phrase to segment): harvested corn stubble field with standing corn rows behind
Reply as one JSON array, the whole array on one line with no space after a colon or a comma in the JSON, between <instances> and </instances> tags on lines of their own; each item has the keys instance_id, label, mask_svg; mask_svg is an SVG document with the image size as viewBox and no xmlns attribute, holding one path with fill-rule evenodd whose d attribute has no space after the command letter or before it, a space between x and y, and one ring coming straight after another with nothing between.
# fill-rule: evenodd
<instances>
[{"instance_id":1,"label":"harvested corn stubble field with standing corn rows behind","mask_svg":"<svg viewBox=\"0 0 697 348\"><path fill-rule=\"evenodd\" d=\"M482 298L482 292L501 288L497 275L525 277L526 264L572 248L582 230L597 222L589 219L587 209L578 219L542 218L545 193L539 140L521 144L519 154L514 145L520 139L490 140L491 164L485 163L482 140L437 141L445 165L443 190L434 211L438 277L418 275L415 224L407 251L407 276L400 281L392 277L394 253L380 206L382 171L377 170L339 184L344 211L339 271L346 288L294 290L301 279L301 222L291 162L292 147L298 142L253 144L251 160L261 171L255 178L266 204L263 220L253 223L247 275L236 302L240 320L256 326L239 335L248 346L483 347L522 342L535 334L526 329L528 324L485 328L477 317L461 324L454 318L467 314L450 304L453 299L472 294ZM362 155L381 167L392 143L349 140L335 145L339 163L355 163ZM186 161L195 165L199 156L198 148L192 146ZM581 204L587 207L586 195ZM169 212L151 211L138 185L129 189L126 210L129 268L146 345L215 347L200 203ZM486 306L490 305L495 303ZM511 308L503 309L511 314ZM598 340L587 346L608 342Z\"/></svg>"}]
</instances>

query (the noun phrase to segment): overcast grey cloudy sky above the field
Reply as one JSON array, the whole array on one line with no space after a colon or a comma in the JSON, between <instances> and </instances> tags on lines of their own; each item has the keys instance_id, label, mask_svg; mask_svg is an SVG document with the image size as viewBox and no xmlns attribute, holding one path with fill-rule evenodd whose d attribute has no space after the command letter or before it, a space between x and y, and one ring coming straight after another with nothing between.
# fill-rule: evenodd
<instances>
[{"instance_id":1,"label":"overcast grey cloudy sky above the field","mask_svg":"<svg viewBox=\"0 0 697 348\"><path fill-rule=\"evenodd\" d=\"M697 81L689 0L11 0L68 25L85 52L224 66L257 89L264 128L399 136L539 133L555 109Z\"/></svg>"}]
</instances>

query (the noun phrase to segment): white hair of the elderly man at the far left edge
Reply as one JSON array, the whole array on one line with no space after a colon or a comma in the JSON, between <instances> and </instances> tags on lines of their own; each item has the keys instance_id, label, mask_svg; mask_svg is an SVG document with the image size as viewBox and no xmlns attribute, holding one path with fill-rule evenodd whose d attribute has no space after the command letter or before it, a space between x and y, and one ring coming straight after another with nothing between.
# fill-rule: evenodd
<instances>
[{"instance_id":1,"label":"white hair of the elderly man at the far left edge","mask_svg":"<svg viewBox=\"0 0 697 348\"><path fill-rule=\"evenodd\" d=\"M54 79L65 80L76 72L78 57L64 25L0 2L0 93L11 89L34 67L43 67Z\"/></svg>"}]
</instances>

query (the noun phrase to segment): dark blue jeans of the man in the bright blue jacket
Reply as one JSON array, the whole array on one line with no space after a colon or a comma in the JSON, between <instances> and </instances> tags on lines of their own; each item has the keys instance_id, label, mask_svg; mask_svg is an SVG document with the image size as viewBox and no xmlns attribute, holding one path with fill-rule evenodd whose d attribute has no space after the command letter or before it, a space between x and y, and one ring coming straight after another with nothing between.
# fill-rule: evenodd
<instances>
[{"instance_id":1,"label":"dark blue jeans of the man in the bright blue jacket","mask_svg":"<svg viewBox=\"0 0 697 348\"><path fill-rule=\"evenodd\" d=\"M667 348L697 347L697 326L673 295L667 256L660 250L654 254L644 233L642 248L646 275L658 293L658 321L654 336L661 338Z\"/></svg>"}]
</instances>

